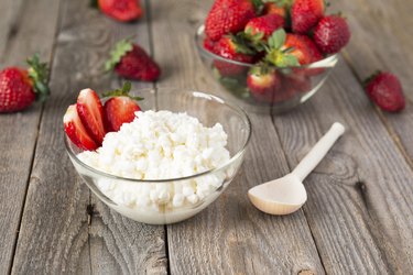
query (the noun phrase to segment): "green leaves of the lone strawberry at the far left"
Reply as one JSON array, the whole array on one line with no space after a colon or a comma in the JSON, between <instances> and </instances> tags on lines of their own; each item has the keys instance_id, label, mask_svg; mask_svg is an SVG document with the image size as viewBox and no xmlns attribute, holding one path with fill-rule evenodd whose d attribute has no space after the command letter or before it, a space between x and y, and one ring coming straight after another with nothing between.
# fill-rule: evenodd
<instances>
[{"instance_id":1,"label":"green leaves of the lone strawberry at the far left","mask_svg":"<svg viewBox=\"0 0 413 275\"><path fill-rule=\"evenodd\" d=\"M50 95L48 76L50 69L47 63L41 63L39 53L28 58L29 64L29 78L33 81L33 89L36 95L36 100L44 101Z\"/></svg>"}]
</instances>

